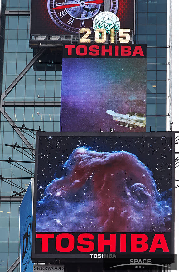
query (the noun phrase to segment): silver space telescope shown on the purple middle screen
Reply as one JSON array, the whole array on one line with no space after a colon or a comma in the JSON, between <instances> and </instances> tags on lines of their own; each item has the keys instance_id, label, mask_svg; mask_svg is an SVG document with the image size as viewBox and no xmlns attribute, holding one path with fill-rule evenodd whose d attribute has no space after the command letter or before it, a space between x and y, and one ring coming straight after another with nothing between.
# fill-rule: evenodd
<instances>
[{"instance_id":1,"label":"silver space telescope shown on the purple middle screen","mask_svg":"<svg viewBox=\"0 0 179 272\"><path fill-rule=\"evenodd\" d=\"M120 114L111 110L107 110L106 113L112 115L113 120L117 121L119 126L136 128L146 126L146 117L143 113L127 112L127 114Z\"/></svg>"}]
</instances>

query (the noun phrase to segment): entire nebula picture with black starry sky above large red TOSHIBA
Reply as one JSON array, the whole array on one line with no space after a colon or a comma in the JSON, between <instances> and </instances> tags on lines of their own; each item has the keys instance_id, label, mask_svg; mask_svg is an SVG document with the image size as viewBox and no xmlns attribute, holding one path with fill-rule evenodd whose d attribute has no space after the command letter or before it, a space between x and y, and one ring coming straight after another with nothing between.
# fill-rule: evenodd
<instances>
[{"instance_id":1,"label":"entire nebula picture with black starry sky above large red TOSHIBA","mask_svg":"<svg viewBox=\"0 0 179 272\"><path fill-rule=\"evenodd\" d=\"M36 232L171 232L170 137L39 139Z\"/></svg>"}]
</instances>

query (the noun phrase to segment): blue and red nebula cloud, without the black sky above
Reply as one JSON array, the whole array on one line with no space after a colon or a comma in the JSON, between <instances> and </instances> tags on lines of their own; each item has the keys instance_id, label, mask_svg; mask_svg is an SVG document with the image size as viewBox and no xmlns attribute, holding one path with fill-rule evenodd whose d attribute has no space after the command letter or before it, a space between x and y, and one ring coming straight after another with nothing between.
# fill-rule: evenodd
<instances>
[{"instance_id":1,"label":"blue and red nebula cloud, without the black sky above","mask_svg":"<svg viewBox=\"0 0 179 272\"><path fill-rule=\"evenodd\" d=\"M77 147L64 168L37 202L36 231L171 231L171 189L159 192L136 155Z\"/></svg>"}]
</instances>

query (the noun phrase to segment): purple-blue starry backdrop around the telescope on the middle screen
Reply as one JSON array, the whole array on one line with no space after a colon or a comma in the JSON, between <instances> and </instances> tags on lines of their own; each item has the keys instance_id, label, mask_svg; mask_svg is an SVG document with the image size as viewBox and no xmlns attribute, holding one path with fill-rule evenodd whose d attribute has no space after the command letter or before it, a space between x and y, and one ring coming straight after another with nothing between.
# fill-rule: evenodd
<instances>
[{"instance_id":1,"label":"purple-blue starry backdrop around the telescope on the middle screen","mask_svg":"<svg viewBox=\"0 0 179 272\"><path fill-rule=\"evenodd\" d=\"M63 58L61 126L63 131L130 132L107 110L146 114L146 59ZM137 127L133 132L144 132Z\"/></svg>"}]
</instances>

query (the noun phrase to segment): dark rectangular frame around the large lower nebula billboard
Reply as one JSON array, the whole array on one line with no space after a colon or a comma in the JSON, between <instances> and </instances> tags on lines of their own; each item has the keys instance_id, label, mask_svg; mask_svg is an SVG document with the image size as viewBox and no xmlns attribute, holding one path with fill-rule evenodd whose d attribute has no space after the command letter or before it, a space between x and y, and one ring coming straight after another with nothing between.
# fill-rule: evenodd
<instances>
[{"instance_id":1,"label":"dark rectangular frame around the large lower nebula billboard","mask_svg":"<svg viewBox=\"0 0 179 272\"><path fill-rule=\"evenodd\" d=\"M98 258L96 259L87 259L86 253L80 254L73 254L73 253L66 253L60 256L59 254L49 254L49 253L42 253L36 254L35 253L35 233L36 233L36 194L37 194L37 170L38 170L38 150L39 150L39 137L47 137L47 136L59 136L59 137L171 137L172 138L172 220L171 220L171 253L169 254L148 254L148 253L134 253L134 254L122 254L124 258L164 258L167 259L174 259L174 219L175 219L175 133L174 132L37 132L36 133L36 157L35 157L35 178L34 178L34 199L33 199L33 222L32 222L32 261L33 262L40 262L40 261L54 261L56 259L68 259L70 261L76 261L76 258L79 259L79 262L96 262L99 261ZM49 232L48 232L49 233ZM54 233L54 232L52 232ZM70 255L70 258L69 258ZM103 259L100 259L101 261ZM169 261L169 260L168 260Z\"/></svg>"}]
</instances>

